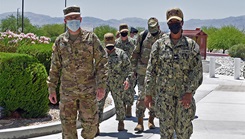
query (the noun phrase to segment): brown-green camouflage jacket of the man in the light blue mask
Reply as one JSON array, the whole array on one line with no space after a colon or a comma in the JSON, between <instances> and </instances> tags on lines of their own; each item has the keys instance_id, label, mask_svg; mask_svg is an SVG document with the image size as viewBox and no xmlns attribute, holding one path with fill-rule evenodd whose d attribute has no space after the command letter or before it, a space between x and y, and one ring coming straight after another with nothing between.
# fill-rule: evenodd
<instances>
[{"instance_id":1,"label":"brown-green camouflage jacket of the man in the light blue mask","mask_svg":"<svg viewBox=\"0 0 245 139\"><path fill-rule=\"evenodd\" d=\"M82 90L83 84L106 88L106 62L106 52L94 33L81 30L75 41L68 32L61 34L53 45L49 93L55 92L59 79L61 91Z\"/></svg>"}]
</instances>

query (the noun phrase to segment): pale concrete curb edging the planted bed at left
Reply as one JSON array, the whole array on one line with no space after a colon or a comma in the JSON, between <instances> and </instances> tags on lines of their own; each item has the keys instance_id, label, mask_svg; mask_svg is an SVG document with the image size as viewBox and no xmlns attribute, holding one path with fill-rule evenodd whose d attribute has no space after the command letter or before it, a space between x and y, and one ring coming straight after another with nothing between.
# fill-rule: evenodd
<instances>
[{"instance_id":1,"label":"pale concrete curb edging the planted bed at left","mask_svg":"<svg viewBox=\"0 0 245 139\"><path fill-rule=\"evenodd\" d=\"M111 97L111 95L108 95ZM112 99L112 105L106 107L103 112L103 121L112 117L116 112L115 104ZM81 123L77 122L77 128L81 128ZM55 133L60 133L61 129L61 122L53 122L48 123L45 125L35 125L35 126L28 126L28 127L18 127L18 128L11 128L11 129L2 129L0 130L0 139L26 139L32 137L39 137L45 136Z\"/></svg>"}]
</instances>

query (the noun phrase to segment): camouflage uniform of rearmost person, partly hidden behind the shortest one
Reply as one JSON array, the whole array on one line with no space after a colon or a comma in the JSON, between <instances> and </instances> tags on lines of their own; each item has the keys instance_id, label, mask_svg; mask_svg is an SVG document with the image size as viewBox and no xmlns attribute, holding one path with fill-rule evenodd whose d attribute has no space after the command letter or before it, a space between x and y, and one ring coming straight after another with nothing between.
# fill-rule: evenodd
<instances>
[{"instance_id":1,"label":"camouflage uniform of rearmost person, partly hidden behind the shortest one","mask_svg":"<svg viewBox=\"0 0 245 139\"><path fill-rule=\"evenodd\" d=\"M128 58L131 58L131 56L133 54L133 50L136 47L136 40L128 36L128 39L126 41L123 41L119 37L116 39L115 47L124 50L126 52ZM131 79L129 89L124 91L124 93L125 93L124 104L125 105L129 105L129 106L133 105L134 95L135 95L134 87L135 87L135 79Z\"/></svg>"}]
</instances>

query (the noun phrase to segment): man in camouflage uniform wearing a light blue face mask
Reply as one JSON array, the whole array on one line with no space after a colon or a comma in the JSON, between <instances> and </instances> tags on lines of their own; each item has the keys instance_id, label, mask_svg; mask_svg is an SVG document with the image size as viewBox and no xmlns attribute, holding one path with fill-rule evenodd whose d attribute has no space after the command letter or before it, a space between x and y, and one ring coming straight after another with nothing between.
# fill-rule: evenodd
<instances>
[{"instance_id":1,"label":"man in camouflage uniform wearing a light blue face mask","mask_svg":"<svg viewBox=\"0 0 245 139\"><path fill-rule=\"evenodd\" d=\"M83 128L81 136L93 139L98 124L97 100L104 97L106 88L106 52L94 33L80 28L80 7L66 7L64 15L67 31L53 45L47 79L49 100L57 103L55 90L60 79L62 138L77 138L76 120L79 119Z\"/></svg>"}]
</instances>

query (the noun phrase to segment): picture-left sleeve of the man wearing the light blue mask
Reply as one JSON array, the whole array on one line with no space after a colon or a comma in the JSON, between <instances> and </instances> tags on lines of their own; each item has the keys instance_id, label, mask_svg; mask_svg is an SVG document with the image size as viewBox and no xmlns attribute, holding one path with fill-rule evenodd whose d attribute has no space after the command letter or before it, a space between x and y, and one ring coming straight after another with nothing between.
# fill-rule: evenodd
<instances>
[{"instance_id":1,"label":"picture-left sleeve of the man wearing the light blue mask","mask_svg":"<svg viewBox=\"0 0 245 139\"><path fill-rule=\"evenodd\" d=\"M47 78L49 93L56 92L58 81L60 79L61 60L59 58L58 48L58 41L56 41L52 46L53 52L51 56L51 66L49 70L49 76Z\"/></svg>"}]
</instances>

